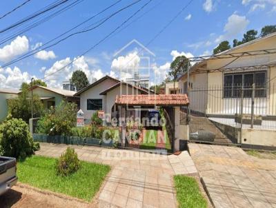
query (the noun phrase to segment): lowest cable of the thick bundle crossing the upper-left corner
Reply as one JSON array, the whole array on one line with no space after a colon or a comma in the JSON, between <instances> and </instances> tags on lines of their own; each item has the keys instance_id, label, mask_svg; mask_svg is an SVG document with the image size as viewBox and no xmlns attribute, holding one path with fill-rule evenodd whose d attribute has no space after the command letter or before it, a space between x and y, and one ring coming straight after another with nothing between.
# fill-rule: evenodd
<instances>
[{"instance_id":1,"label":"lowest cable of the thick bundle crossing the upper-left corner","mask_svg":"<svg viewBox=\"0 0 276 208\"><path fill-rule=\"evenodd\" d=\"M84 0L76 0L73 3L70 3L70 5L68 5L64 8L61 8L60 10L57 10L56 12L53 12L52 14L49 14L49 15L47 14L45 17L41 17L38 21L31 23L26 28L23 28L17 32L12 32L11 36L7 36L1 40L0 45L3 43L6 43L7 41L14 39L15 37L23 34L24 32L32 30L32 28L36 28L38 25L41 25L42 23L52 19L53 17L56 17L57 15L61 14L62 12L65 12L65 11L69 10L70 8L77 6L77 4L81 3L82 1L84 1Z\"/></svg>"}]
</instances>

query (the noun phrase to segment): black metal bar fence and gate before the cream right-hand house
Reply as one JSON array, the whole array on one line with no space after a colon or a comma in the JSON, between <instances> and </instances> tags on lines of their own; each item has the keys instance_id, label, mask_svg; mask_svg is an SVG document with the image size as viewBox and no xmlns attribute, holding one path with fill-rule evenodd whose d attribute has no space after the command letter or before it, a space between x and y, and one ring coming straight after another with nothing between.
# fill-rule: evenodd
<instances>
[{"instance_id":1,"label":"black metal bar fence and gate before the cream right-hand house","mask_svg":"<svg viewBox=\"0 0 276 208\"><path fill-rule=\"evenodd\" d=\"M190 141L239 144L241 129L276 130L275 93L274 85L264 84L190 89Z\"/></svg>"}]
</instances>

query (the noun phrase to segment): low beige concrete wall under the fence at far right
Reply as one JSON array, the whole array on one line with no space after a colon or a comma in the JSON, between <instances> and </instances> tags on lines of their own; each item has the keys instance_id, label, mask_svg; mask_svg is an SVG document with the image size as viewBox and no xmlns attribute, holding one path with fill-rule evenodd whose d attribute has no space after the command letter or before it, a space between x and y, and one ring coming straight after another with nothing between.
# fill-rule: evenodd
<instances>
[{"instance_id":1,"label":"low beige concrete wall under the fence at far right","mask_svg":"<svg viewBox=\"0 0 276 208\"><path fill-rule=\"evenodd\" d=\"M242 144L276 147L276 130L242 129Z\"/></svg>"}]
</instances>

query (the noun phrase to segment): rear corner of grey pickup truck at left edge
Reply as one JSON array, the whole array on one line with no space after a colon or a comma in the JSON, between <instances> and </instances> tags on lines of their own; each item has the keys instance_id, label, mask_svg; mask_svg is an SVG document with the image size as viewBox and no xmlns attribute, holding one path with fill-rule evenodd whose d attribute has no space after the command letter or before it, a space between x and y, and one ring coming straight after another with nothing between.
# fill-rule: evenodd
<instances>
[{"instance_id":1,"label":"rear corner of grey pickup truck at left edge","mask_svg":"<svg viewBox=\"0 0 276 208\"><path fill-rule=\"evenodd\" d=\"M17 160L0 157L0 195L17 183Z\"/></svg>"}]
</instances>

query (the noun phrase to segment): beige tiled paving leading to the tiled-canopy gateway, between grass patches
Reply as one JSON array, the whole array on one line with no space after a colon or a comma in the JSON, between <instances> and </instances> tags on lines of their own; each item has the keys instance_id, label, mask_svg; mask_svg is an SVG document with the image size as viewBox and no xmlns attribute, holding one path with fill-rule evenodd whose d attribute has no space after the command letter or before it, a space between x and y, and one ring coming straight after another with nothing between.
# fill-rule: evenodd
<instances>
[{"instance_id":1,"label":"beige tiled paving leading to the tiled-canopy gateway, between grass patches","mask_svg":"<svg viewBox=\"0 0 276 208\"><path fill-rule=\"evenodd\" d=\"M67 145L41 143L38 155L57 157ZM99 193L99 207L177 207L172 176L195 174L188 152L160 156L121 149L72 145L79 159L112 166Z\"/></svg>"}]
</instances>

